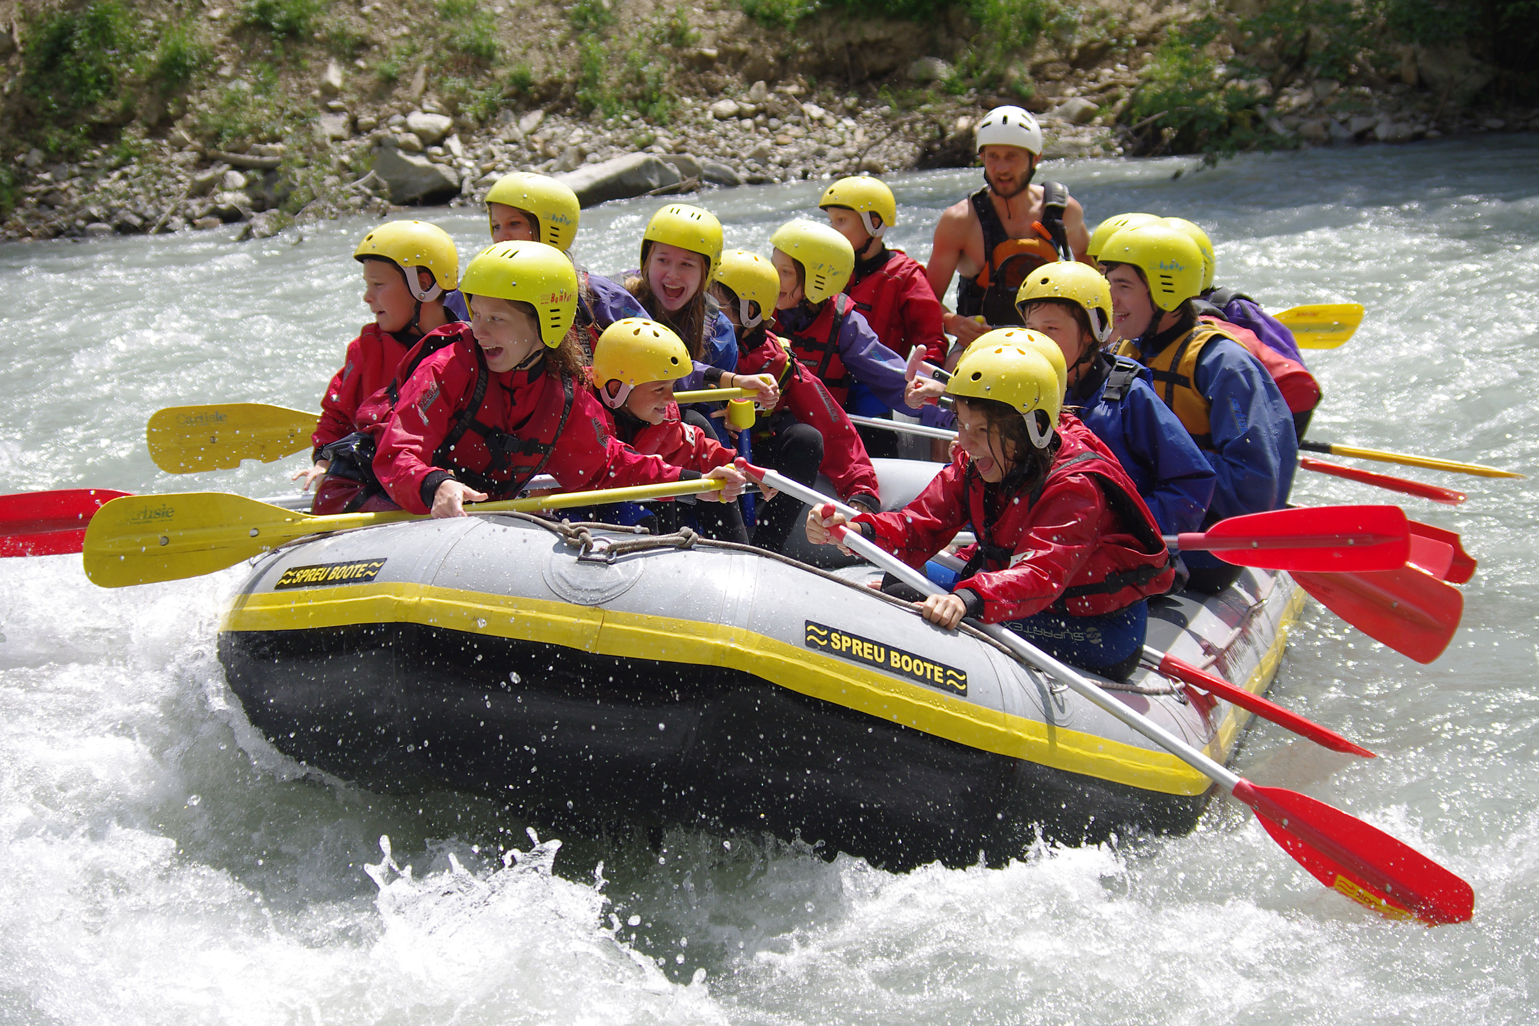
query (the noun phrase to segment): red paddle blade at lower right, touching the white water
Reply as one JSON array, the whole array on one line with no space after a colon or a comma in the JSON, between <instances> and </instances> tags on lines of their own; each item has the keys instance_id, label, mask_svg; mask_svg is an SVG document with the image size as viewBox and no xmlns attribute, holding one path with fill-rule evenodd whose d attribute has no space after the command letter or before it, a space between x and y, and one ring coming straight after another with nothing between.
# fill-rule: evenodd
<instances>
[{"instance_id":1,"label":"red paddle blade at lower right, touching the white water","mask_svg":"<svg viewBox=\"0 0 1539 1026\"><path fill-rule=\"evenodd\" d=\"M1294 861L1357 904L1428 926L1468 923L1474 915L1474 891L1468 883L1340 809L1248 780L1240 780L1234 797L1256 812Z\"/></svg>"}]
</instances>

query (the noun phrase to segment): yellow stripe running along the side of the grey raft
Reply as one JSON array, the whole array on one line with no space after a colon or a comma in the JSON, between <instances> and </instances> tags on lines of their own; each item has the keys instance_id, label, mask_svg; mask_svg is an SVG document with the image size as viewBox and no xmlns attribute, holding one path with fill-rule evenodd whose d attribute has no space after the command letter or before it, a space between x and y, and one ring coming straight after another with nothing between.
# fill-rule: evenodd
<instances>
[{"instance_id":1,"label":"yellow stripe running along the side of the grey raft","mask_svg":"<svg viewBox=\"0 0 1539 1026\"><path fill-rule=\"evenodd\" d=\"M1302 592L1290 603L1285 620L1297 615L1300 603ZM1065 772L1176 795L1199 795L1211 783L1167 752L1008 715L777 638L696 620L376 581L315 588L302 594L240 595L225 614L220 631L309 631L360 623L416 623L560 645L597 655L720 666L968 748ZM1285 631L1279 632L1247 681L1248 689L1265 691L1277 669L1285 637ZM1220 761L1244 725L1236 714L1250 715L1231 709L1208 746Z\"/></svg>"}]
</instances>

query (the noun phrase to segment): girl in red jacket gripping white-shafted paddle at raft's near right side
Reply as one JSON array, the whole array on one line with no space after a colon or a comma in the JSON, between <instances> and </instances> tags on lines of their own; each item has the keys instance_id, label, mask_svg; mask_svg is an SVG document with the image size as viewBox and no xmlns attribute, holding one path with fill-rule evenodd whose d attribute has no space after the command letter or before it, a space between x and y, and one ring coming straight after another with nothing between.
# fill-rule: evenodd
<instances>
[{"instance_id":1,"label":"girl in red jacket gripping white-shafted paddle at raft's near right side","mask_svg":"<svg viewBox=\"0 0 1539 1026\"><path fill-rule=\"evenodd\" d=\"M1065 661L1125 678L1143 649L1148 597L1174 580L1165 541L1116 457L1060 414L1054 366L1003 335L979 337L946 385L953 461L903 509L853 523L910 566L971 525L977 543L957 552L966 565L956 586L925 598L923 617L946 629L965 615L1003 623ZM814 509L806 537L826 545L840 523L851 521Z\"/></svg>"}]
</instances>

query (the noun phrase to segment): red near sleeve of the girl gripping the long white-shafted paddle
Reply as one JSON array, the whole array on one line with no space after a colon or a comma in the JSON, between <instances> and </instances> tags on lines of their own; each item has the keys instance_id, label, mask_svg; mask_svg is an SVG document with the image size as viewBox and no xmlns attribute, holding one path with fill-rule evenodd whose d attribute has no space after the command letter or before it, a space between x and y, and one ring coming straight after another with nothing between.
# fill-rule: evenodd
<instances>
[{"instance_id":1,"label":"red near sleeve of the girl gripping the long white-shafted paddle","mask_svg":"<svg viewBox=\"0 0 1539 1026\"><path fill-rule=\"evenodd\" d=\"M960 580L956 591L966 589L983 600L985 623L1042 612L1094 555L1105 517L1107 498L1090 475L1067 474L1037 500L1010 566Z\"/></svg>"}]
</instances>

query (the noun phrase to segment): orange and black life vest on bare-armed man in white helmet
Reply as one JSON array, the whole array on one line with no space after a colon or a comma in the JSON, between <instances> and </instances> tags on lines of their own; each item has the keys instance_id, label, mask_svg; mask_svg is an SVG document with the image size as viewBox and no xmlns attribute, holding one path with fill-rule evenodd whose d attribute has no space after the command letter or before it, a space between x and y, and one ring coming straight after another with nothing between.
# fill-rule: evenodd
<instances>
[{"instance_id":1,"label":"orange and black life vest on bare-armed man in white helmet","mask_svg":"<svg viewBox=\"0 0 1539 1026\"><path fill-rule=\"evenodd\" d=\"M1068 189L1057 182L1042 183L1042 222L1030 238L1011 238L1005 223L994 212L988 186L968 197L979 228L983 229L985 266L977 277L957 281L957 312L963 317L983 315L993 328L1025 326L1016 309L1016 292L1027 275L1054 260L1073 260L1063 231Z\"/></svg>"}]
</instances>

